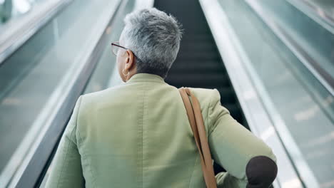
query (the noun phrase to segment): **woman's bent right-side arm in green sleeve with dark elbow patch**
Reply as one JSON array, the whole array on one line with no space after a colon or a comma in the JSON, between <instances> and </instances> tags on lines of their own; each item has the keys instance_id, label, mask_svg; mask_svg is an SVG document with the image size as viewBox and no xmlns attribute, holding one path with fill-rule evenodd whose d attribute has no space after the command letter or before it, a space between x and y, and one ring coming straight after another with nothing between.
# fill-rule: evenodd
<instances>
[{"instance_id":1,"label":"woman's bent right-side arm in green sleeve with dark elbow patch","mask_svg":"<svg viewBox=\"0 0 334 188\"><path fill-rule=\"evenodd\" d=\"M276 177L272 150L231 117L213 90L208 110L208 141L213 160L227 173L216 176L224 187L269 187Z\"/></svg>"}]
</instances>

